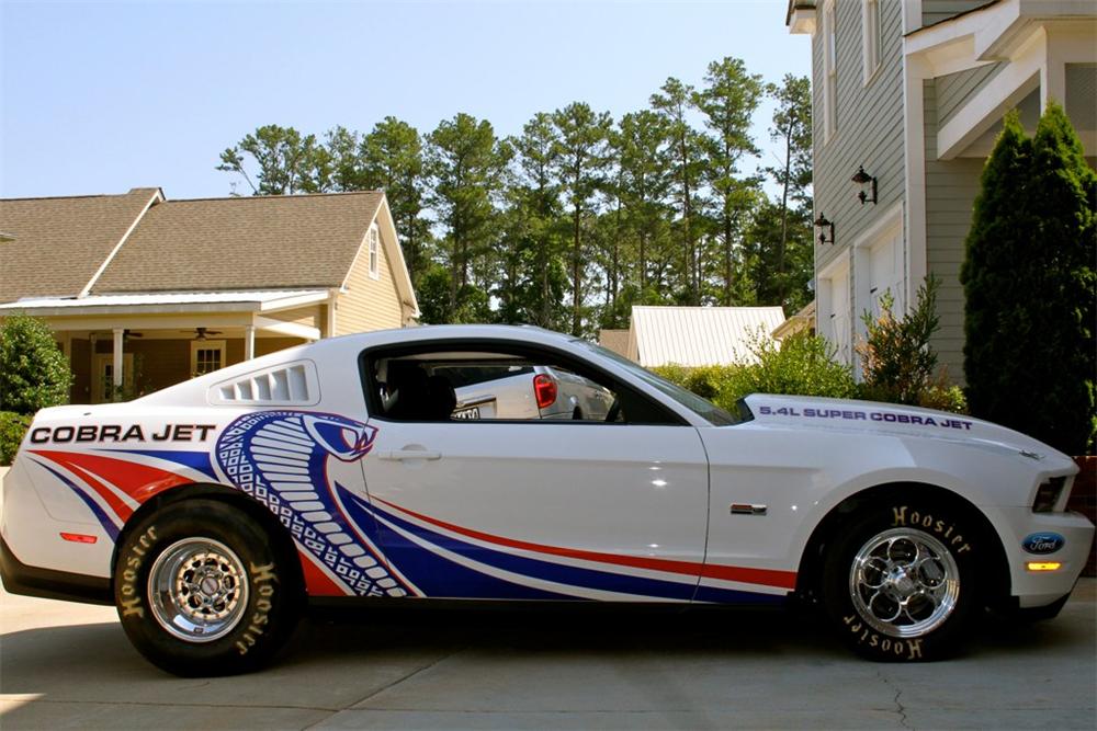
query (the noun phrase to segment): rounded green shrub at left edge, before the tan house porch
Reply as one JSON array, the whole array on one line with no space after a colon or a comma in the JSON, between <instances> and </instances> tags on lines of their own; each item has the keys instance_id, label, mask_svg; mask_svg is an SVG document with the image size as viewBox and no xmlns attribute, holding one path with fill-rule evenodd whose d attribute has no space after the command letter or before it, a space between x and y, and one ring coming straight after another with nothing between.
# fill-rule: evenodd
<instances>
[{"instance_id":1,"label":"rounded green shrub at left edge, before the tan house porch","mask_svg":"<svg viewBox=\"0 0 1097 731\"><path fill-rule=\"evenodd\" d=\"M53 332L25 315L0 325L0 411L31 414L67 403L72 370Z\"/></svg>"}]
</instances>

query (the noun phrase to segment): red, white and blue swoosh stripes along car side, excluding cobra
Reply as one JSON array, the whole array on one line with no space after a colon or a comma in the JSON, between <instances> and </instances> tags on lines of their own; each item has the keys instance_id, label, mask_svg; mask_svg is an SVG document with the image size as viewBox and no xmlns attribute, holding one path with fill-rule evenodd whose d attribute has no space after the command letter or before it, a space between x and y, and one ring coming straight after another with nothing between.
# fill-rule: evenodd
<instances>
[{"instance_id":1,"label":"red, white and blue swoosh stripes along car side, excluding cobra","mask_svg":"<svg viewBox=\"0 0 1097 731\"><path fill-rule=\"evenodd\" d=\"M159 492L196 481L220 481L206 453L99 452L38 449L31 454L36 464L79 496L112 540L117 539L134 511ZM327 484L321 455L312 457L316 462L310 470L314 482L318 479ZM326 519L341 525L360 547L354 551L341 548L340 552L375 557L378 570L396 581L405 595L757 604L780 602L795 587L793 571L535 544L456 525L377 498L371 501L330 482L330 488L317 495L329 511ZM323 498L324 493L329 496ZM275 506L271 509L280 513ZM285 509L283 505L282 512ZM343 567L332 570L323 564L326 561L314 560L316 551L306 550L304 545L299 548L309 594L361 593L350 586L349 575L341 575L338 569Z\"/></svg>"}]
</instances>

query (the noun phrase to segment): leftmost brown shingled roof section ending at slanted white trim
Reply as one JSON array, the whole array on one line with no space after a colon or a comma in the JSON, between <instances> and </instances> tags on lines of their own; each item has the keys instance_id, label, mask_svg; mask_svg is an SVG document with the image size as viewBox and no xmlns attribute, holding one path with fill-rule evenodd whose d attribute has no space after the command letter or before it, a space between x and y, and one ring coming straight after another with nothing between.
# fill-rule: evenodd
<instances>
[{"instance_id":1,"label":"leftmost brown shingled roof section ending at slanted white trim","mask_svg":"<svg viewBox=\"0 0 1097 731\"><path fill-rule=\"evenodd\" d=\"M135 187L124 195L0 199L0 301L76 297L162 194Z\"/></svg>"}]
</instances>

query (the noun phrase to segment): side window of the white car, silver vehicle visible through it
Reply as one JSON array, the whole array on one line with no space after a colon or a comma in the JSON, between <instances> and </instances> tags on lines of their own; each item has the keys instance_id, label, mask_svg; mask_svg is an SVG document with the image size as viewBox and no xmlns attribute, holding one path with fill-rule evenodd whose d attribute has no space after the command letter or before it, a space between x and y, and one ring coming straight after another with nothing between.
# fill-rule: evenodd
<instances>
[{"instance_id":1,"label":"side window of the white car, silver vehicle visible through it","mask_svg":"<svg viewBox=\"0 0 1097 731\"><path fill-rule=\"evenodd\" d=\"M389 421L670 421L648 399L580 369L543 354L506 351L373 353L363 358L371 412Z\"/></svg>"}]
</instances>

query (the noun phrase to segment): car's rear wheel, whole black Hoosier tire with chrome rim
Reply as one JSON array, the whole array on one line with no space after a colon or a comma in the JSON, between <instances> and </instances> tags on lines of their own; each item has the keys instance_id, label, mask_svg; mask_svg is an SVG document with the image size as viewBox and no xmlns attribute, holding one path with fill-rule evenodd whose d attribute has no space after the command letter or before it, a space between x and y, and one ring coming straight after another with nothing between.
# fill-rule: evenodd
<instances>
[{"instance_id":1,"label":"car's rear wheel, whole black Hoosier tire with chrome rim","mask_svg":"<svg viewBox=\"0 0 1097 731\"><path fill-rule=\"evenodd\" d=\"M303 605L299 569L275 542L258 521L217 500L184 500L145 517L114 567L114 601L134 647L184 676L267 663Z\"/></svg>"}]
</instances>

